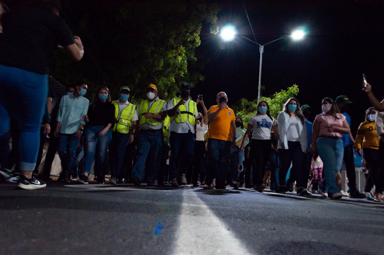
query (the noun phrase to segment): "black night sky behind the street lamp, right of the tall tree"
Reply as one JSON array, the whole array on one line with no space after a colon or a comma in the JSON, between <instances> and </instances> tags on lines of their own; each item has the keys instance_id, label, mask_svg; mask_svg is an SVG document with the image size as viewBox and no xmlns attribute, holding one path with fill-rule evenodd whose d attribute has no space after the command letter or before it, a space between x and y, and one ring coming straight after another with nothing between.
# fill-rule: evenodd
<instances>
[{"instance_id":1,"label":"black night sky behind the street lamp, right of the tall tree","mask_svg":"<svg viewBox=\"0 0 384 255\"><path fill-rule=\"evenodd\" d=\"M383 1L245 1L258 43L265 44L304 28L302 41L284 38L264 47L262 81L270 96L297 84L300 104L309 104L313 116L321 99L347 95L352 132L364 121L370 107L362 91L362 74L379 100L384 98L384 4ZM232 23L238 33L254 40L242 1L222 3L218 24ZM202 72L205 81L192 94L204 94L214 104L219 91L227 92L228 104L240 98L257 99L260 53L258 45L241 37L223 43L220 36L201 34L199 53L210 59ZM207 98L209 96L210 98Z\"/></svg>"}]
</instances>

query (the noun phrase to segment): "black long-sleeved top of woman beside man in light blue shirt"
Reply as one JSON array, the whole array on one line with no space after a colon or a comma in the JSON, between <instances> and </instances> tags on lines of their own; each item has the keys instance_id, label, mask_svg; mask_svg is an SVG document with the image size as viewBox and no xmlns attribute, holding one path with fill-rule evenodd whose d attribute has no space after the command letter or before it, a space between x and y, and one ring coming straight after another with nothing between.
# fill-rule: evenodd
<instances>
[{"instance_id":1,"label":"black long-sleeved top of woman beside man in light blue shirt","mask_svg":"<svg viewBox=\"0 0 384 255\"><path fill-rule=\"evenodd\" d=\"M100 102L91 104L88 108L89 126L107 126L115 123L115 106L111 102Z\"/></svg>"}]
</instances>

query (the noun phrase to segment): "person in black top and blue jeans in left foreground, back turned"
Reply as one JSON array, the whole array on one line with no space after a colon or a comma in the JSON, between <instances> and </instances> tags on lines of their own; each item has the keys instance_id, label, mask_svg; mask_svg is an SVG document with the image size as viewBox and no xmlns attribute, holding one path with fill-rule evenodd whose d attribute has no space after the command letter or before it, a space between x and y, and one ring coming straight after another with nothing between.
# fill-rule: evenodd
<instances>
[{"instance_id":1,"label":"person in black top and blue jeans in left foreground, back turned","mask_svg":"<svg viewBox=\"0 0 384 255\"><path fill-rule=\"evenodd\" d=\"M41 189L32 177L40 146L40 126L48 92L48 58L58 44L74 60L84 55L80 38L59 15L60 1L35 1L1 18L0 33L0 161L9 156L10 119L20 130L22 176L18 187ZM3 172L0 169L1 172ZM3 174L4 175L4 174Z\"/></svg>"}]
</instances>

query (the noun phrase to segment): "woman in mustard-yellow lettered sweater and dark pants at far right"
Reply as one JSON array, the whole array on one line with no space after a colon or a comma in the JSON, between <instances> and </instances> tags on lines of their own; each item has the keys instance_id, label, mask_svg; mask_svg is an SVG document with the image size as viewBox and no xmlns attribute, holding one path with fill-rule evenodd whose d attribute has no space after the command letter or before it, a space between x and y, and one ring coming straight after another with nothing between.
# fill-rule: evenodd
<instances>
[{"instance_id":1,"label":"woman in mustard-yellow lettered sweater and dark pants at far right","mask_svg":"<svg viewBox=\"0 0 384 255\"><path fill-rule=\"evenodd\" d=\"M371 189L373 184L376 184L377 172L379 168L379 135L376 132L375 123L376 109L371 107L366 111L365 121L360 124L358 134L356 136L356 149L359 156L362 156L362 149L364 151L364 159L369 165L369 175L364 188L366 198L368 200L374 200L375 202L381 202L380 192L381 190L375 190L375 196L372 199ZM370 182L369 180L373 180Z\"/></svg>"}]
</instances>

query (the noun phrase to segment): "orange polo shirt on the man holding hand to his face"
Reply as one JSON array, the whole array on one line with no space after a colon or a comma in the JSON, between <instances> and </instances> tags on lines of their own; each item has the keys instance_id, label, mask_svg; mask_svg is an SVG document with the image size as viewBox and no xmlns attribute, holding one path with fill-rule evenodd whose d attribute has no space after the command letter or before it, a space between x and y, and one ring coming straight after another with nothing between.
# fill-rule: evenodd
<instances>
[{"instance_id":1,"label":"orange polo shirt on the man holding hand to his face","mask_svg":"<svg viewBox=\"0 0 384 255\"><path fill-rule=\"evenodd\" d=\"M213 113L220 108L219 105L213 105L209 108L208 112ZM228 106L223 108L220 113L217 115L214 121L211 121L211 124L208 129L208 139L214 138L224 141L232 141L231 136L231 122L235 121L235 113Z\"/></svg>"}]
</instances>

